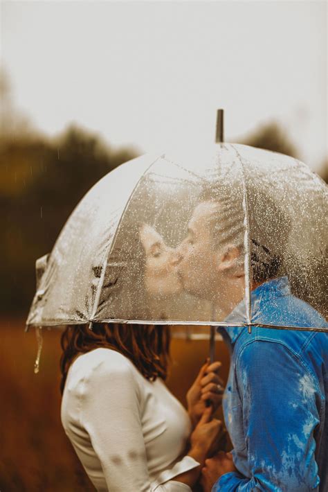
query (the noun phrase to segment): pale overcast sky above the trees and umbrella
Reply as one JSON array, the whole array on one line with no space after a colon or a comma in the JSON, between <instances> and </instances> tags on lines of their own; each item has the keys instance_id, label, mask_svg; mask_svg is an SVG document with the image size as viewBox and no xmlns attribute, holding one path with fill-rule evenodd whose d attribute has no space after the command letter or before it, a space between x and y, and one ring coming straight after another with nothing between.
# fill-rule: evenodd
<instances>
[{"instance_id":1,"label":"pale overcast sky above the trees and umbrella","mask_svg":"<svg viewBox=\"0 0 328 492\"><path fill-rule=\"evenodd\" d=\"M15 105L48 134L72 121L153 151L273 119L300 157L327 154L325 1L2 2Z\"/></svg>"}]
</instances>

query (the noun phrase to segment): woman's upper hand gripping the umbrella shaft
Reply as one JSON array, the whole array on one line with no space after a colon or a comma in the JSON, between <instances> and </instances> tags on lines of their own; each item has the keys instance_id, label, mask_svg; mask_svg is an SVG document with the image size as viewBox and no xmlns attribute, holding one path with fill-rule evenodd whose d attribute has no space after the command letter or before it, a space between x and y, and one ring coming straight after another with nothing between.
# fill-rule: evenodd
<instances>
[{"instance_id":1,"label":"woman's upper hand gripping the umbrella shaft","mask_svg":"<svg viewBox=\"0 0 328 492\"><path fill-rule=\"evenodd\" d=\"M217 374L220 367L221 362L210 364L210 360L208 359L203 367L201 367L199 375L187 393L188 414L193 427L197 425L197 422L206 409L206 401L212 403L213 412L221 404L224 387L221 378Z\"/></svg>"}]
</instances>

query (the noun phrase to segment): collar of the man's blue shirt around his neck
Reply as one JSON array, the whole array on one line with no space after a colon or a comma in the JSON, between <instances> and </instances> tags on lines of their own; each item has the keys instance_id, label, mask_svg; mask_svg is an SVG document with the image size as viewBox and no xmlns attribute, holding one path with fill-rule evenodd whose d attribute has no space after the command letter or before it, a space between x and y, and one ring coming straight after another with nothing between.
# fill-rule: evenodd
<instances>
[{"instance_id":1,"label":"collar of the man's blue shirt around his neck","mask_svg":"<svg viewBox=\"0 0 328 492\"><path fill-rule=\"evenodd\" d=\"M262 305L272 303L277 297L284 297L291 294L288 277L282 276L279 279L272 279L262 283L250 292L250 304L252 306L251 322L254 322L255 314L262 311ZM239 323L244 321L246 326L221 326L217 331L221 333L226 342L235 344L237 338L243 330L247 330L245 299L240 302L235 309L226 317L227 323Z\"/></svg>"}]
</instances>

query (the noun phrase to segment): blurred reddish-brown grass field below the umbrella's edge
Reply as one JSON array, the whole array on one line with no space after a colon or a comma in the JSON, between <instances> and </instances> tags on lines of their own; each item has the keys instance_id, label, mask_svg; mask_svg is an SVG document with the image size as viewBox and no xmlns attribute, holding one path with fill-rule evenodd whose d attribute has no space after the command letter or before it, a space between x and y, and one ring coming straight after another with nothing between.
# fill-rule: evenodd
<instances>
[{"instance_id":1,"label":"blurred reddish-brown grass field below the umbrella's edge","mask_svg":"<svg viewBox=\"0 0 328 492\"><path fill-rule=\"evenodd\" d=\"M0 490L1 492L93 491L60 423L60 331L44 331L39 374L33 366L35 333L24 319L1 319ZM208 342L172 341L167 385L185 403L185 392L208 355ZM228 373L228 352L217 342Z\"/></svg>"}]
</instances>

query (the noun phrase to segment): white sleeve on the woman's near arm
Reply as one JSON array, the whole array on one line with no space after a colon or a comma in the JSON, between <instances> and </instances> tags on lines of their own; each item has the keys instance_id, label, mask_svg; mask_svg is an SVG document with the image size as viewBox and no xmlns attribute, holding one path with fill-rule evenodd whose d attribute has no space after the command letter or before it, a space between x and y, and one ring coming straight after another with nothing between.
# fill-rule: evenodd
<instances>
[{"instance_id":1,"label":"white sleeve on the woman's near arm","mask_svg":"<svg viewBox=\"0 0 328 492\"><path fill-rule=\"evenodd\" d=\"M109 367L107 361L102 361L84 380L82 425L100 459L108 489L191 492L189 486L171 481L172 473L168 473L165 483L150 482L140 403L140 388L128 364ZM194 466L189 464L189 468Z\"/></svg>"}]
</instances>

